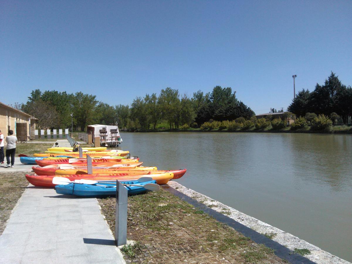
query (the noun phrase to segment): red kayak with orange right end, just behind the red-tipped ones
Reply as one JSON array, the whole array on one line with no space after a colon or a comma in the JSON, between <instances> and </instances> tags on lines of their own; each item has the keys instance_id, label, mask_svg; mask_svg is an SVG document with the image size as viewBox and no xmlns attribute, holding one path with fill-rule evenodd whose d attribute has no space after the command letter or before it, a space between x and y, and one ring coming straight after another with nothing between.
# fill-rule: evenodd
<instances>
[{"instance_id":1,"label":"red kayak with orange right end, just behind the red-tipped ones","mask_svg":"<svg viewBox=\"0 0 352 264\"><path fill-rule=\"evenodd\" d=\"M73 162L74 161L74 162ZM36 163L41 166L48 166L52 164L77 164L80 166L87 166L87 160L79 160L79 159L42 159L41 161L36 160ZM92 159L92 164L104 164L105 167L108 165L114 165L114 164L134 164L134 163L140 163L138 159L105 159L105 158L97 158L97 159ZM142 163L141 163L142 164Z\"/></svg>"}]
</instances>

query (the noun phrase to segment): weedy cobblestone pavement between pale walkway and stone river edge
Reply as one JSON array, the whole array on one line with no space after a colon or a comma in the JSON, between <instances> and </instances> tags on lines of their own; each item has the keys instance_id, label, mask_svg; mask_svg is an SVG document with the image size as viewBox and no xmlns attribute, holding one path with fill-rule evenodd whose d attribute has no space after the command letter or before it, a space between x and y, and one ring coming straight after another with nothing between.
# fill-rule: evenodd
<instances>
[{"instance_id":1,"label":"weedy cobblestone pavement between pale walkway and stone river edge","mask_svg":"<svg viewBox=\"0 0 352 264\"><path fill-rule=\"evenodd\" d=\"M114 230L115 198L99 202ZM271 249L163 190L129 197L127 239L137 242L127 263L284 263Z\"/></svg>"}]
</instances>

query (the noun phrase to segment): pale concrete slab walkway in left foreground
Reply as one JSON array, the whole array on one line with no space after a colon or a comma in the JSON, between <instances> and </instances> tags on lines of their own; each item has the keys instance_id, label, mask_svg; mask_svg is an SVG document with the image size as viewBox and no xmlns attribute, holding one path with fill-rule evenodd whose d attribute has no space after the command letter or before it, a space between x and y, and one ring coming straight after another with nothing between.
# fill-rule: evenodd
<instances>
[{"instance_id":1,"label":"pale concrete slab walkway in left foreground","mask_svg":"<svg viewBox=\"0 0 352 264\"><path fill-rule=\"evenodd\" d=\"M0 237L0 263L125 261L96 199L58 195L30 184Z\"/></svg>"}]
</instances>

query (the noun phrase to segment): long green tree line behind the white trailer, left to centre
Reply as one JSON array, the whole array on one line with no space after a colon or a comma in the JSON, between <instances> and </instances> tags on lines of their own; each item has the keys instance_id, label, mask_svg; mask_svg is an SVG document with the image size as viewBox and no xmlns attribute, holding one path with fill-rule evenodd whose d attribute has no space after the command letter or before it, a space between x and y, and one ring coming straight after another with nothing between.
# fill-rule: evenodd
<instances>
[{"instance_id":1,"label":"long green tree line behind the white trailer, left to centre","mask_svg":"<svg viewBox=\"0 0 352 264\"><path fill-rule=\"evenodd\" d=\"M39 129L71 127L73 114L73 126L81 131L92 124L118 124L120 129L131 131L156 129L157 126L169 129L199 127L209 120L249 119L254 115L250 107L237 99L231 87L221 86L206 94L199 90L192 97L167 87L159 95L137 96L131 105L115 106L82 92L69 94L36 89L32 90L26 103L15 103L15 107L38 118Z\"/></svg>"}]
</instances>

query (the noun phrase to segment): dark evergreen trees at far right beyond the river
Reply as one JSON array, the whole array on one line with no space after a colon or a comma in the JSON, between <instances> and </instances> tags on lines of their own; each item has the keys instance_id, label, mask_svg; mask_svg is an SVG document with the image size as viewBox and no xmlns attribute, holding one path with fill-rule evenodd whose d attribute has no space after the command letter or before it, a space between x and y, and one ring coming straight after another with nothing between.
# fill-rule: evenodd
<instances>
[{"instance_id":1,"label":"dark evergreen trees at far right beyond the river","mask_svg":"<svg viewBox=\"0 0 352 264\"><path fill-rule=\"evenodd\" d=\"M352 88L341 83L333 72L323 85L316 84L312 92L303 89L288 107L288 111L304 117L309 113L325 115L332 119L341 117L347 124L352 115Z\"/></svg>"}]
</instances>

